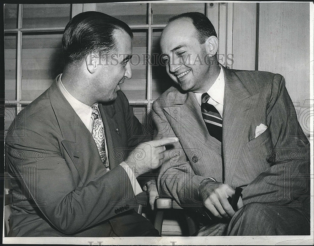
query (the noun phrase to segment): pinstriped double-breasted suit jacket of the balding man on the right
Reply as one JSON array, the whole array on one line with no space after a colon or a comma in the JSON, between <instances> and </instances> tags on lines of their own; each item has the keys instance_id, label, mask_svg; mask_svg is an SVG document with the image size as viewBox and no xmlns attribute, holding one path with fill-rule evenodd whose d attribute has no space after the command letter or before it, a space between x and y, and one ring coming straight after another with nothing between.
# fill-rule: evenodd
<instances>
[{"instance_id":1,"label":"pinstriped double-breasted suit jacket of the balding man on the right","mask_svg":"<svg viewBox=\"0 0 314 246\"><path fill-rule=\"evenodd\" d=\"M193 92L171 87L153 104L156 139L177 136L176 160L160 169L160 193L199 204L206 177L243 187L243 203L295 206L309 217L310 149L279 74L225 69L222 147L209 135ZM267 130L257 138L255 128Z\"/></svg>"}]
</instances>

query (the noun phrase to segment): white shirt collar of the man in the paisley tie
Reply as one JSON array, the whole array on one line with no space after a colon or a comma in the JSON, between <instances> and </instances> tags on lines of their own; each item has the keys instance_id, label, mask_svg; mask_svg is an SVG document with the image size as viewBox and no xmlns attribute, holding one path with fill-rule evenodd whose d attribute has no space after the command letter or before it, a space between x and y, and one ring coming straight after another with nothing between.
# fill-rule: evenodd
<instances>
[{"instance_id":1,"label":"white shirt collar of the man in the paisley tie","mask_svg":"<svg viewBox=\"0 0 314 246\"><path fill-rule=\"evenodd\" d=\"M59 87L60 91L62 92L63 96L67 101L70 103L70 105L73 107L75 113L78 115L78 117L82 120L85 126L88 126L90 123L90 118L92 116L92 108L89 105L84 104L83 102L78 101L75 97L73 97L68 90L64 87L61 81L60 74L58 80L57 80L57 86ZM95 105L98 107L98 104Z\"/></svg>"}]
</instances>

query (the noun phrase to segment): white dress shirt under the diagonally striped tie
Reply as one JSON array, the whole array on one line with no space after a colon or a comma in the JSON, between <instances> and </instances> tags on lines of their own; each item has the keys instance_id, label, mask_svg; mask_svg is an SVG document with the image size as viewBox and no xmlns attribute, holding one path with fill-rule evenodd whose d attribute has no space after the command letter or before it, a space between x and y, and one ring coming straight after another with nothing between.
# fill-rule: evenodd
<instances>
[{"instance_id":1,"label":"white dress shirt under the diagonally striped tie","mask_svg":"<svg viewBox=\"0 0 314 246\"><path fill-rule=\"evenodd\" d=\"M203 92L205 93L205 92ZM196 99L198 100L199 105L202 104L202 94L195 93ZM225 74L222 66L220 67L220 73L215 80L214 84L207 91L210 98L207 103L213 105L219 112L221 118L224 110L224 95L225 95Z\"/></svg>"}]
</instances>

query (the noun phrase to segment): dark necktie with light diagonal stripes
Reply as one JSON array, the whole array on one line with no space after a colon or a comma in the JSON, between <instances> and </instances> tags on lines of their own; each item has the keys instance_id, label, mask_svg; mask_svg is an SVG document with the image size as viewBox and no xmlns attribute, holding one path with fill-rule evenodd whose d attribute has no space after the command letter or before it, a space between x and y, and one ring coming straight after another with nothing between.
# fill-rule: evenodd
<instances>
[{"instance_id":1,"label":"dark necktie with light diagonal stripes","mask_svg":"<svg viewBox=\"0 0 314 246\"><path fill-rule=\"evenodd\" d=\"M218 139L220 142L222 141L222 117L219 114L218 110L211 104L207 103L209 99L209 95L204 93L202 95L202 104L201 111L202 116L205 121L208 133Z\"/></svg>"}]
</instances>

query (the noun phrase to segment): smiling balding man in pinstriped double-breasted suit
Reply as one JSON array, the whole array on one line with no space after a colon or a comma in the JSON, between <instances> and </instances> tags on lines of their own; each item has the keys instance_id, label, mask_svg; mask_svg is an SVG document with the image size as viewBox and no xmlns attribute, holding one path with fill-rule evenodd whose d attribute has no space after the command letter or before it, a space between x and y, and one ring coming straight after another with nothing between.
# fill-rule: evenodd
<instances>
[{"instance_id":1,"label":"smiling balding man in pinstriped double-breasted suit","mask_svg":"<svg viewBox=\"0 0 314 246\"><path fill-rule=\"evenodd\" d=\"M201 213L199 236L309 234L309 141L284 78L220 65L201 13L171 18L160 47L176 86L153 104L155 138L179 138L176 160L160 168L160 195Z\"/></svg>"}]
</instances>

